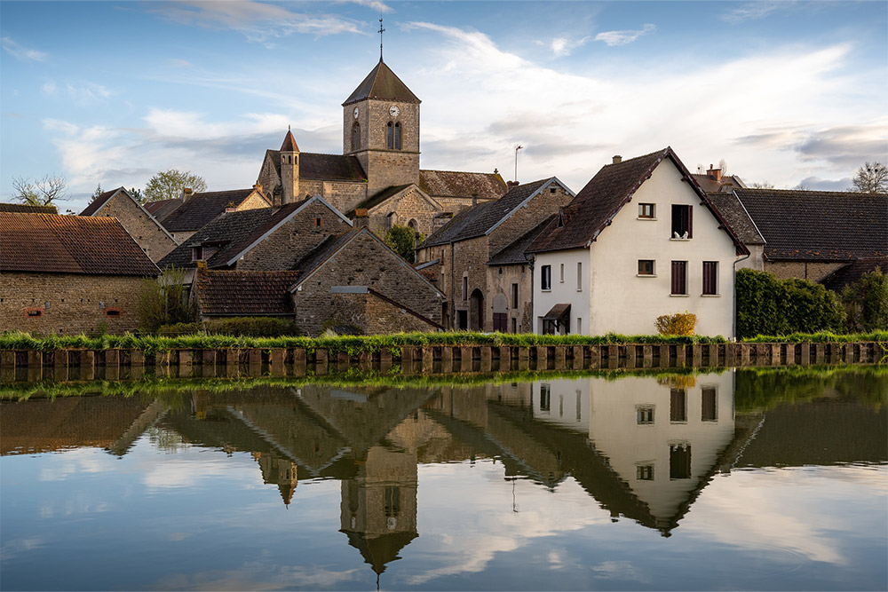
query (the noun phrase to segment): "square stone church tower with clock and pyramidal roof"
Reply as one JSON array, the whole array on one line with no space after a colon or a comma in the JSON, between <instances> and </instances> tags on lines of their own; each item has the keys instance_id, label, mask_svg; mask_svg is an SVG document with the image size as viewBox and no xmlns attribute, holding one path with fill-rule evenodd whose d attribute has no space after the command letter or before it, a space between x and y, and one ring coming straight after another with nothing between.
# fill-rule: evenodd
<instances>
[{"instance_id":1,"label":"square stone church tower with clock and pyramidal roof","mask_svg":"<svg viewBox=\"0 0 888 592\"><path fill-rule=\"evenodd\" d=\"M343 154L361 162L368 197L419 183L420 102L380 58L342 104Z\"/></svg>"}]
</instances>

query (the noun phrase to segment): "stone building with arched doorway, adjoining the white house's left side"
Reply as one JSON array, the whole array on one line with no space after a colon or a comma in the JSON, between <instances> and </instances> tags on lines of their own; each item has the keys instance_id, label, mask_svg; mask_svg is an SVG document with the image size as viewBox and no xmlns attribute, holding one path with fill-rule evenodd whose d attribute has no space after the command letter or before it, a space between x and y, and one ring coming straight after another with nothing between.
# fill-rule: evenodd
<instances>
[{"instance_id":1,"label":"stone building with arched doorway, adjoining the white house's left side","mask_svg":"<svg viewBox=\"0 0 888 592\"><path fill-rule=\"evenodd\" d=\"M419 245L417 268L437 271L448 297L448 327L533 330L532 273L515 243L527 244L528 233L535 237L532 231L573 197L554 177L516 185L497 201L464 210Z\"/></svg>"}]
</instances>

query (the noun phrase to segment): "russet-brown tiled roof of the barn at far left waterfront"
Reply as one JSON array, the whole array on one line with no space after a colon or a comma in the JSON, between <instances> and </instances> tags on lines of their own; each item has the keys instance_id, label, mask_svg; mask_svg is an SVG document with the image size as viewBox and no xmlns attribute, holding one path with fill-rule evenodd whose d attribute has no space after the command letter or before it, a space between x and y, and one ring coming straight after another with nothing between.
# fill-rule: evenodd
<instances>
[{"instance_id":1,"label":"russet-brown tiled roof of the barn at far left waterfront","mask_svg":"<svg viewBox=\"0 0 888 592\"><path fill-rule=\"evenodd\" d=\"M155 276L159 270L113 217L0 213L0 272Z\"/></svg>"}]
</instances>

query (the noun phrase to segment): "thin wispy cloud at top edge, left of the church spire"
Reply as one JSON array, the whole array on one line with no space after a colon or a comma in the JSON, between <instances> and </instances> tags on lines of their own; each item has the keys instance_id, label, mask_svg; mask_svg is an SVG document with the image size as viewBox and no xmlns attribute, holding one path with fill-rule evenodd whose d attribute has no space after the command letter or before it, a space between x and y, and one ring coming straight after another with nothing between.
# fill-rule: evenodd
<instances>
[{"instance_id":1,"label":"thin wispy cloud at top edge, left of the church spire","mask_svg":"<svg viewBox=\"0 0 888 592\"><path fill-rule=\"evenodd\" d=\"M315 36L362 33L360 23L352 19L335 14L309 15L291 12L278 4L252 0L159 2L153 4L149 10L181 25L230 28L249 41L263 43L269 48L274 47L274 39L294 33Z\"/></svg>"}]
</instances>

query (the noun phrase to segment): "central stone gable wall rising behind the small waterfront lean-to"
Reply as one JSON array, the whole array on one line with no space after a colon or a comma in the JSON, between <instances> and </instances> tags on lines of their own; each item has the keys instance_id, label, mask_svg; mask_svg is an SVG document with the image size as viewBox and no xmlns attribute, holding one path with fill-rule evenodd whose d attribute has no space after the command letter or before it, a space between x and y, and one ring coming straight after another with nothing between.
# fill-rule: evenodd
<instances>
[{"instance_id":1,"label":"central stone gable wall rising behind the small waterfront lean-to","mask_svg":"<svg viewBox=\"0 0 888 592\"><path fill-rule=\"evenodd\" d=\"M317 335L329 320L333 286L367 286L418 314L440 323L438 291L381 241L361 233L320 269L308 276L294 294L297 325Z\"/></svg>"}]
</instances>

